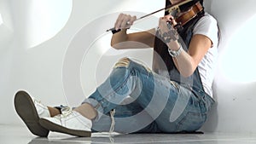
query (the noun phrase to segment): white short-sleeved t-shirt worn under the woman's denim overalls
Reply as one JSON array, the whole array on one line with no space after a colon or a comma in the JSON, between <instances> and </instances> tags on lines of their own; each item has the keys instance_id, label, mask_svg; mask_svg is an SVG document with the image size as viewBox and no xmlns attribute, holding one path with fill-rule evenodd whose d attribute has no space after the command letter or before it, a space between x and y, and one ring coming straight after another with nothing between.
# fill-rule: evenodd
<instances>
[{"instance_id":1,"label":"white short-sleeved t-shirt worn under the woman's denim overalls","mask_svg":"<svg viewBox=\"0 0 256 144\"><path fill-rule=\"evenodd\" d=\"M216 70L218 59L218 26L217 20L210 14L205 14L195 24L193 34L207 36L212 41L210 48L204 58L201 60L198 69L201 75L201 81L206 93L212 96L212 82Z\"/></svg>"}]
</instances>

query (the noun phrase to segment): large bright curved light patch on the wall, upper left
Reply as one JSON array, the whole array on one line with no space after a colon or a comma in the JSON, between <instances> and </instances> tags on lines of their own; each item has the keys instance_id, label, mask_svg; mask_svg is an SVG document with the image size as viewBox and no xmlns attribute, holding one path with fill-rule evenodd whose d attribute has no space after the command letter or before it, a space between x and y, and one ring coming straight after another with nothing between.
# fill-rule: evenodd
<instances>
[{"instance_id":1,"label":"large bright curved light patch on the wall, upper left","mask_svg":"<svg viewBox=\"0 0 256 144\"><path fill-rule=\"evenodd\" d=\"M32 48L54 37L67 24L72 0L33 0L28 11L27 47Z\"/></svg>"}]
</instances>

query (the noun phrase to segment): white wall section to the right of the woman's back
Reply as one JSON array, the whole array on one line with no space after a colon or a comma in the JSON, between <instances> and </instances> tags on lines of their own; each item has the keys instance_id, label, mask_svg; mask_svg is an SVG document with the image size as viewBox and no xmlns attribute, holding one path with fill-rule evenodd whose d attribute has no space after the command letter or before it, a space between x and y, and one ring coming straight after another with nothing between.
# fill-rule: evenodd
<instances>
[{"instance_id":1,"label":"white wall section to the right of the woman's back","mask_svg":"<svg viewBox=\"0 0 256 144\"><path fill-rule=\"evenodd\" d=\"M256 132L255 3L253 0L207 1L207 9L219 21L223 39L214 83L217 104L205 130Z\"/></svg>"}]
</instances>

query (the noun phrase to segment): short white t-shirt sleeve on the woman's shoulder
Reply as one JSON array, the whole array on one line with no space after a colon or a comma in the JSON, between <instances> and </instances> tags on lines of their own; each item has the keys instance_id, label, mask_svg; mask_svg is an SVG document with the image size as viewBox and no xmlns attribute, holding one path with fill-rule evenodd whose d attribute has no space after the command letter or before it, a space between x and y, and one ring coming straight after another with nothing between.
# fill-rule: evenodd
<instances>
[{"instance_id":1,"label":"short white t-shirt sleeve on the woman's shoulder","mask_svg":"<svg viewBox=\"0 0 256 144\"><path fill-rule=\"evenodd\" d=\"M210 14L206 14L195 24L193 34L207 36L213 45L218 45L218 25L217 20Z\"/></svg>"}]
</instances>

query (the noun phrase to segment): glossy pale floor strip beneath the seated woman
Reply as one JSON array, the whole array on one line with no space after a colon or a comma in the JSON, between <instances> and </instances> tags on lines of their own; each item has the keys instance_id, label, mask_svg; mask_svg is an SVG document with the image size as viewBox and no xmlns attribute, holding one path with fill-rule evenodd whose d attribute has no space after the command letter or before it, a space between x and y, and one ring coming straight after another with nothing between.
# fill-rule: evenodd
<instances>
[{"instance_id":1,"label":"glossy pale floor strip beneath the seated woman","mask_svg":"<svg viewBox=\"0 0 256 144\"><path fill-rule=\"evenodd\" d=\"M175 143L175 144L256 144L256 134L203 134L170 135L140 134L119 135L108 133L92 134L79 138L60 133L49 133L48 138L32 135L25 126L0 125L0 144L104 144L104 143Z\"/></svg>"}]
</instances>

